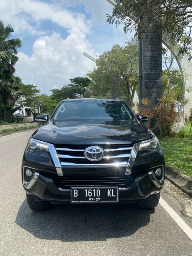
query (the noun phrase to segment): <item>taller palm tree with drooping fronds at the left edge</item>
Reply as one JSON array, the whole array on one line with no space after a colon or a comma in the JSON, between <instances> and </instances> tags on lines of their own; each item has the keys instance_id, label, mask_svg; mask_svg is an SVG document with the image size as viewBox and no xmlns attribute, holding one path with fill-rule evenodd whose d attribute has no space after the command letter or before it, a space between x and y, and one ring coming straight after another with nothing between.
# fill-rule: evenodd
<instances>
[{"instance_id":1,"label":"taller palm tree with drooping fronds at the left edge","mask_svg":"<svg viewBox=\"0 0 192 256\"><path fill-rule=\"evenodd\" d=\"M14 32L10 25L4 26L0 20L0 120L2 120L1 98L4 93L4 83L8 83L15 73L15 64L19 60L17 49L21 47L21 39L9 39ZM6 110L5 110L6 111Z\"/></svg>"}]
</instances>

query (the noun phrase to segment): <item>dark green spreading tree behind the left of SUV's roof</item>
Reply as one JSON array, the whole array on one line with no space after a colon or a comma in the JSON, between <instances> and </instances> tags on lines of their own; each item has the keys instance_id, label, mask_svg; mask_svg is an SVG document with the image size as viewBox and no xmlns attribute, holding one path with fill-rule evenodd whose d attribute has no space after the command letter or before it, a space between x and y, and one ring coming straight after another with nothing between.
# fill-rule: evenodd
<instances>
[{"instance_id":1,"label":"dark green spreading tree behind the left of SUV's roof","mask_svg":"<svg viewBox=\"0 0 192 256\"><path fill-rule=\"evenodd\" d=\"M90 80L85 77L75 77L69 79L71 84L64 85L61 89L52 89L51 98L56 100L58 103L61 100L70 98L83 98L86 88L88 87Z\"/></svg>"}]
</instances>

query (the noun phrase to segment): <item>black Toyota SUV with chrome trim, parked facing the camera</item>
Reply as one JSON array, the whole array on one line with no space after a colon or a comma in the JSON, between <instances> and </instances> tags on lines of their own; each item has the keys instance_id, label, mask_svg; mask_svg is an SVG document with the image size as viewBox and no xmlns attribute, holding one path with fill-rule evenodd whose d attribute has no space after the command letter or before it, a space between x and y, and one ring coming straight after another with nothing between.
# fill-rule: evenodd
<instances>
[{"instance_id":1,"label":"black Toyota SUV with chrome trim, parked facing the camera","mask_svg":"<svg viewBox=\"0 0 192 256\"><path fill-rule=\"evenodd\" d=\"M28 140L22 182L31 209L51 204L137 203L153 208L164 185L158 139L122 100L68 99Z\"/></svg>"}]
</instances>

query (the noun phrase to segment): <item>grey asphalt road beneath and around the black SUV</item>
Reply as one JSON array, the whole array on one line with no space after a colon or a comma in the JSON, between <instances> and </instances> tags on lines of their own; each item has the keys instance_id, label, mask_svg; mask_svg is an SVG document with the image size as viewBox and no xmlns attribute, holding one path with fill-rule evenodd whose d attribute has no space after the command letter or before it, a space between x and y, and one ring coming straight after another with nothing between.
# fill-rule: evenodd
<instances>
[{"instance_id":1,"label":"grey asphalt road beneath and around the black SUV","mask_svg":"<svg viewBox=\"0 0 192 256\"><path fill-rule=\"evenodd\" d=\"M0 256L192 255L192 241L182 230L186 224L188 232L192 228L192 198L167 180L161 196L177 223L162 203L155 210L73 204L31 211L21 184L21 160L31 134L0 137Z\"/></svg>"}]
</instances>

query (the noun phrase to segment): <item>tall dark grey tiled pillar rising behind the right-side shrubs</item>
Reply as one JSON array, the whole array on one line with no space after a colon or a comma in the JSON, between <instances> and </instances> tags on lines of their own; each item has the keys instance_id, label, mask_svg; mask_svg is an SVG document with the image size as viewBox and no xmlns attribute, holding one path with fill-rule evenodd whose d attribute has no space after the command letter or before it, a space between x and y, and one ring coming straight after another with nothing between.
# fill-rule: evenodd
<instances>
[{"instance_id":1,"label":"tall dark grey tiled pillar rising behind the right-side shrubs","mask_svg":"<svg viewBox=\"0 0 192 256\"><path fill-rule=\"evenodd\" d=\"M139 86L140 101L148 98L153 108L163 93L162 81L162 37L150 25L148 37L139 40Z\"/></svg>"}]
</instances>

